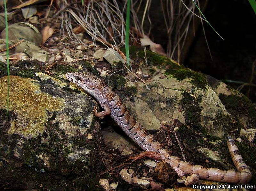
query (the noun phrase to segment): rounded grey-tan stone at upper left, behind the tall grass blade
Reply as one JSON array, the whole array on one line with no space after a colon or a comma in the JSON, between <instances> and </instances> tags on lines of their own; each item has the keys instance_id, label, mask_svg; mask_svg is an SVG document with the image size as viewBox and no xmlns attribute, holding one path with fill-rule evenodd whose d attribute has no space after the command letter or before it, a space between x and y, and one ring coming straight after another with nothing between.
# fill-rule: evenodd
<instances>
[{"instance_id":1,"label":"rounded grey-tan stone at upper left, behind the tall grass blade","mask_svg":"<svg viewBox=\"0 0 256 191\"><path fill-rule=\"evenodd\" d=\"M24 23L15 23L15 24L9 25L8 26L9 40L14 40L17 43L20 40L25 39L25 41L33 45L39 46L42 42L42 34L39 33L39 31L36 29L35 26L32 26L32 27ZM1 38L5 38L5 29L1 33ZM22 52L22 51L18 51L18 52Z\"/></svg>"}]
</instances>

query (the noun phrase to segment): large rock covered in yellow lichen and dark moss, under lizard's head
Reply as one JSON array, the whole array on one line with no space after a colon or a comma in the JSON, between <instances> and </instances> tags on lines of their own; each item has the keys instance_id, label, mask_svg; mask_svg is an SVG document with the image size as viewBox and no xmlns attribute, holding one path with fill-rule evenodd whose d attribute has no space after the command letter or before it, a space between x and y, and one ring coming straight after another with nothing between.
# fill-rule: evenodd
<instances>
[{"instance_id":1,"label":"large rock covered in yellow lichen and dark moss, under lizard's head","mask_svg":"<svg viewBox=\"0 0 256 191\"><path fill-rule=\"evenodd\" d=\"M6 121L6 86L7 77L1 77L0 185L18 190L34 189L40 184L47 190L71 187L81 190L82 187L89 189L86 185L92 182L95 185L94 170L88 170L91 157L97 152L95 143L100 138L99 122L90 122L94 118L91 108L95 103L84 95L56 85L10 76L9 117ZM86 138L88 132L93 141ZM44 173L54 184L47 185ZM81 180L84 182L82 187Z\"/></svg>"}]
</instances>

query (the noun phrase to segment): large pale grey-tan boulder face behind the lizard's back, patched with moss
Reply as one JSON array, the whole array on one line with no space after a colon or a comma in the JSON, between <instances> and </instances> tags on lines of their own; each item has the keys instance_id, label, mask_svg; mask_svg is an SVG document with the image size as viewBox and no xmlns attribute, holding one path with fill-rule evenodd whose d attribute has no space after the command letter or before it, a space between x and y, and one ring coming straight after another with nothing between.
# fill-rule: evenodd
<instances>
[{"instance_id":1,"label":"large pale grey-tan boulder face behind the lizard's back, patched with moss","mask_svg":"<svg viewBox=\"0 0 256 191\"><path fill-rule=\"evenodd\" d=\"M159 77L162 76L164 70L156 72L158 74L147 82L150 91L143 83L133 84L129 81L127 82L128 86L135 86L137 92L133 93L134 101L128 100L124 102L132 110L131 113L137 116L137 120L143 127L159 129L160 121L174 121L175 119L185 124L186 112L193 110L191 113L193 120L197 116L196 119L208 134L218 137L223 136L222 128L228 124L220 116L229 117L229 114L209 85L206 84L205 89L195 88L189 78L185 78L182 81L174 77L160 79ZM201 96L204 99L200 99ZM186 99L193 99L194 101L188 102L185 101ZM183 106L177 107L181 103ZM188 106L188 104L191 105ZM150 116L145 117L148 111L152 113ZM218 121L218 125L216 125L216 121Z\"/></svg>"}]
</instances>

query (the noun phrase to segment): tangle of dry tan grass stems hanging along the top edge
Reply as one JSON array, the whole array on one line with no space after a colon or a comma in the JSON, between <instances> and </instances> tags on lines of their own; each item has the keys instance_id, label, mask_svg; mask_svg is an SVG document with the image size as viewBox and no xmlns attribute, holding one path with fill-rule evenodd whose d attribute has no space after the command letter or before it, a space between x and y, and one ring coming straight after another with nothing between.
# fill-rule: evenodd
<instances>
[{"instance_id":1,"label":"tangle of dry tan grass stems hanging along the top edge","mask_svg":"<svg viewBox=\"0 0 256 191\"><path fill-rule=\"evenodd\" d=\"M122 2L113 0L112 2L94 0L87 1L85 6L81 6L78 3L67 4L66 1L62 1L62 32L68 31L69 36L74 37L73 27L80 25L92 37L94 45L96 45L96 41L100 41L106 47L113 46L118 49L124 46L126 2L124 0ZM198 0L195 2L199 3ZM132 1L130 44L138 44L139 38L142 38L143 34L150 35L152 24L148 14L150 6L151 0L146 2L145 7L142 7L141 0ZM170 58L179 62L188 31L196 15L196 6L193 1L185 0L160 0L159 6L161 6L163 22L167 29L168 46L166 53ZM137 14L142 9L144 15L140 21ZM196 16L201 18L201 15ZM143 31L143 23L146 18L150 24L147 32Z\"/></svg>"}]
</instances>

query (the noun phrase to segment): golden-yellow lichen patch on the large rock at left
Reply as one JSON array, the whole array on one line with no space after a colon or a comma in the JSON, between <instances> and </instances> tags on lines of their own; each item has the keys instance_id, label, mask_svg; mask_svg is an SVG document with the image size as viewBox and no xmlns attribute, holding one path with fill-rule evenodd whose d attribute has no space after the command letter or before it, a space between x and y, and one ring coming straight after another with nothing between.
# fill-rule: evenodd
<instances>
[{"instance_id":1,"label":"golden-yellow lichen patch on the large rock at left","mask_svg":"<svg viewBox=\"0 0 256 191\"><path fill-rule=\"evenodd\" d=\"M6 109L7 76L0 78L0 108ZM64 106L63 98L41 92L38 81L19 76L10 76L9 110L17 114L10 121L9 134L33 138L43 133L47 123L47 111L59 111Z\"/></svg>"}]
</instances>

